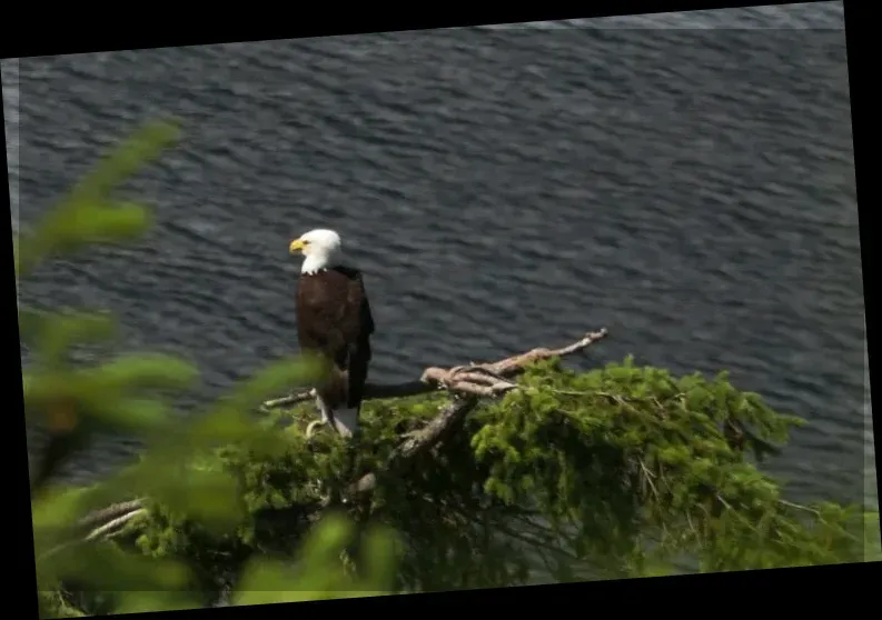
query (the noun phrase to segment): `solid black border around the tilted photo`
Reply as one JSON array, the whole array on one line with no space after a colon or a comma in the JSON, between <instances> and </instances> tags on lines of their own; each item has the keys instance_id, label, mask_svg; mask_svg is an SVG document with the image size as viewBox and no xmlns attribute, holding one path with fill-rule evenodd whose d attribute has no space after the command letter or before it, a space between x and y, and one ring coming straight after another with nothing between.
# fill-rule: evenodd
<instances>
[{"instance_id":1,"label":"solid black border around the tilted photo","mask_svg":"<svg viewBox=\"0 0 882 620\"><path fill-rule=\"evenodd\" d=\"M769 4L794 4L797 2L774 2ZM850 94L852 106L852 134L854 142L854 159L855 159L855 177L863 179L863 183L858 183L859 196L859 211L863 226L861 227L861 258L863 264L872 263L873 239L870 229L870 214L869 204L874 204L872 199L872 190L875 189L874 184L869 182L869 150L870 150L870 112L868 101L870 96L864 93L862 97L861 82L859 74L862 63L860 60L866 58L859 52L859 49L864 43L864 36L860 28L863 23L869 21L868 14L862 14L870 2L859 2L858 0L844 0L845 8L845 34L849 57L849 81ZM755 2L690 2L690 1L667 1L667 2L640 2L640 1L618 1L618 2L592 2L591 9L566 10L564 8L546 7L543 9L519 9L519 10L496 10L496 11L479 11L474 7L464 12L448 11L402 11L396 9L393 13L384 16L381 12L373 12L367 14L350 13L350 20L345 20L340 12L329 16L329 19L323 19L310 14L308 22L306 20L299 21L294 17L288 17L281 21L272 20L272 13L269 10L252 11L254 17L258 19L249 19L251 16L225 14L219 6L209 14L202 12L195 23L187 23L186 20L178 20L176 16L170 16L161 10L143 11L143 7L127 7L128 9L141 9L142 14L137 14L137 21L129 22L129 20L119 20L117 23L108 20L107 14L96 16L102 19L90 19L91 16L83 10L83 7L77 6L76 17L80 18L81 26L76 26L76 21L62 21L68 28L62 30L43 29L41 24L30 30L30 34L17 38L10 34L14 29L28 32L28 26L34 24L34 21L27 19L28 7L17 4L16 9L23 9L23 11L12 14L11 7L7 8L8 16L12 19L7 20L4 28L4 37L0 44L2 44L2 58L23 58L32 56L50 56L60 53L78 53L90 51L105 51L105 50L120 50L120 49L143 49L157 47L177 47L177 46L196 46L205 43L219 43L219 42L234 42L234 41L254 41L267 39L289 39L298 37L317 37L328 34L350 34L359 32L377 32L389 30L417 30L427 28L449 28L460 26L474 26L486 23L516 23L523 21L545 21L545 20L559 20L559 19L574 19L574 18L589 18L589 17L607 17L617 14L634 14L634 13L660 13L660 12L680 12L685 10L707 10L707 9L724 9L736 7L754 7L762 6ZM158 6L151 6L151 9L158 9ZM310 7L310 13L316 7ZM239 9L239 7L228 9L230 11ZM101 11L107 13L107 10ZM63 20L63 10L52 10L52 16L46 16L42 23L48 24L56 19ZM118 11L117 16L128 16L128 12ZM320 14L320 13L316 13ZM225 19L225 18L232 19ZM267 18L270 19L259 19ZM48 19L47 19L48 18ZM54 19L52 19L54 18ZM85 18L85 19L83 19ZM208 19L211 19L211 30L197 30L194 27L205 26ZM863 18L863 19L862 19ZM128 23L135 23L146 27L143 29L131 29ZM262 22L262 23L261 23ZM278 26L285 23L285 27ZM872 22L871 22L872 23ZM229 26L228 26L229 24ZM152 27L152 28L151 28ZM62 26L63 29L63 26ZM37 32L37 34L33 34ZM43 36L41 37L40 33ZM869 83L870 80L866 80ZM0 107L0 119L2 119L3 110ZM860 129L859 129L860 128ZM6 147L6 133L3 132L3 147ZM0 149L0 163L3 163L2 169L8 174L8 162L6 157L6 148ZM859 172L862 171L862 172ZM861 176L862 174L862 176ZM7 187L9 187L9 179L7 177ZM9 202L9 192L2 192L0 202L6 206L7 212L11 209ZM861 208L861 206L863 206ZM14 284L14 271L12 268L12 252L11 252L11 217L6 219L9 226L9 233L2 236L7 250L4 251L4 262L8 267L4 269L7 277L10 278L12 287L11 294L7 298L7 308L9 314L4 324L10 327L10 337L18 338L18 321L17 321L17 290ZM871 311L871 296L869 294L869 279L865 276L864 269L864 311L866 317L866 341L868 351L872 350L872 337L875 334L875 329L872 326L870 318L873 317ZM12 358L13 368L19 368L21 371L21 359L18 354L12 353L10 347L10 357ZM870 377L872 384L873 367L872 356L868 356L870 360ZM20 448L12 448L6 450L3 453L11 461L12 466L7 471L13 472L12 479L19 484L17 492L20 493L19 500L9 499L20 504L19 513L16 514L17 522L12 523L16 533L21 532L21 538L24 538L24 532L31 532L32 526L30 522L30 510L24 508L30 502L30 490L27 483L27 444L24 441L24 418L17 414L22 410L21 400L21 382L13 381L12 397L13 397L13 411L10 427L12 431L13 442L20 442ZM871 394L872 398L872 394ZM879 417L873 417L874 427L880 428ZM876 453L880 451L880 443L878 436L874 437ZM879 486L879 480L876 480ZM9 528L10 526L8 526ZM8 530L9 531L9 530ZM14 540L14 538L13 538ZM14 597L14 603L8 601L6 607L8 610L22 610L30 609L36 614L36 578L34 578L34 559L33 547L30 542L19 546L8 546L8 550L14 550L14 558L8 558L10 567L10 576L7 579L14 579L9 582L7 588L7 597ZM23 549L23 551L22 551ZM863 611L865 604L872 601L866 601L865 598L872 592L866 584L873 582L873 577L880 574L880 562L870 562L863 564L842 564L834 567L812 567L799 569L774 569L774 570L756 570L743 571L731 573L715 573L715 574L695 574L683 577L666 577L666 578L646 578L633 579L625 581L603 581L591 583L577 584L557 584L557 586L534 586L522 588L506 588L494 590L473 590L449 593L426 593L405 597L388 597L388 598L374 598L374 599L350 599L338 601L323 601L323 602L307 602L300 603L305 606L323 606L323 609L330 609L330 606L337 606L339 610L345 609L359 609L359 610L374 610L378 612L395 612L397 610L404 611L406 608L413 607L438 607L443 604L465 604L475 606L480 603L499 604L513 603L525 606L533 601L539 608L547 608L549 604L558 607L562 603L566 604L572 602L574 611L571 613L604 613L602 607L597 603L599 600L608 602L615 611L621 612L625 607L637 609L640 607L653 607L655 609L665 609L674 613L684 611L685 606L695 606L702 612L719 612L720 608L731 607L731 602L744 601L750 606L750 612L755 612L756 608L772 611L775 603L783 603L782 607L790 611L795 612L797 608L805 604L806 608L816 608L819 599L825 599L824 602L832 602L838 607L838 611L850 611L854 608L859 613ZM815 589L816 587L816 589ZM767 596L762 596L764 590ZM817 592L820 597L812 597L810 592ZM806 596L809 594L809 596ZM705 607L702 599L706 596L710 600L708 607ZM721 598L722 597L722 598ZM835 598L833 598L835 597ZM831 599L833 599L831 601ZM20 601L21 604L18 604ZM591 604L586 609L586 603ZM696 606L696 603L698 603ZM729 603L729 604L726 604ZM858 604L853 604L858 603ZM301 608L291 607L294 603L286 604L268 604L251 608L221 608L221 609L206 609L192 611L178 611L178 612L163 612L174 613L176 616L190 614L192 618L250 618L257 616L288 616L296 613ZM313 610L313 608L305 608ZM688 609L688 607L686 607ZM697 611L696 610L696 611ZM860 610L860 611L859 611ZM734 611L734 609L733 609ZM145 617L159 616L159 613L148 613Z\"/></svg>"}]
</instances>

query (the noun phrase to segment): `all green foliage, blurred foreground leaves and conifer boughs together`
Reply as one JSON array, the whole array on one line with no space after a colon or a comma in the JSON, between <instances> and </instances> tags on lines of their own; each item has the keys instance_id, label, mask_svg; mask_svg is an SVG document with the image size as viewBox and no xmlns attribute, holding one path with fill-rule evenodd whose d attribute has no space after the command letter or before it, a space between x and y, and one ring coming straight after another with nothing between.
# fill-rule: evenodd
<instances>
[{"instance_id":1,"label":"all green foliage, blurred foreground leaves and conifer boughs together","mask_svg":"<svg viewBox=\"0 0 882 620\"><path fill-rule=\"evenodd\" d=\"M146 211L113 203L110 190L175 136L150 126L87 177L22 236L19 276L141 233ZM402 434L446 396L369 401L355 468L378 473L377 486L329 512L328 489L351 481L349 454L331 434L307 443L311 404L251 416L267 396L314 378L314 364L272 364L185 420L163 400L197 377L180 360L67 363L71 346L113 337L110 317L23 309L20 324L34 360L27 414L57 446L32 476L43 617L880 557L878 513L799 506L762 471L805 422L725 373L673 377L631 358L589 372L537 363L523 389L483 402L442 444L386 476ZM147 449L93 487L49 486L98 430L138 433ZM131 497L149 498L147 510L119 536L63 546L88 510Z\"/></svg>"}]
</instances>

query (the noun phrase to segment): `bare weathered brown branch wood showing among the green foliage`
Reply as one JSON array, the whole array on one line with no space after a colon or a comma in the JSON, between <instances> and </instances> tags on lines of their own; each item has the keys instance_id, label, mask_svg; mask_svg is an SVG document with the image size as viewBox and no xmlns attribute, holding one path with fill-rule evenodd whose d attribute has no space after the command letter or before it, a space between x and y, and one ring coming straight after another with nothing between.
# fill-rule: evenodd
<instances>
[{"instance_id":1,"label":"bare weathered brown branch wood showing among the green foliage","mask_svg":"<svg viewBox=\"0 0 882 620\"><path fill-rule=\"evenodd\" d=\"M606 338L606 329L592 331L565 347L557 349L536 348L495 362L469 363L453 368L426 368L416 381L405 383L380 384L369 383L365 387L365 400L406 398L445 390L450 393L450 402L444 404L437 416L425 427L403 436L402 442L393 450L386 467L380 472L370 472L354 481L348 488L348 500L364 497L373 491L379 476L394 476L404 463L432 449L453 432L465 417L478 404L480 398L496 398L508 391L516 390L515 381L527 366L536 361L556 357L571 356L593 343ZM315 390L304 390L287 397L268 400L261 409L269 410L291 407L315 399ZM326 508L330 499L321 502ZM78 522L81 528L91 528L86 534L87 540L107 537L135 517L143 513L143 501L140 499L120 502L102 510L89 513Z\"/></svg>"}]
</instances>

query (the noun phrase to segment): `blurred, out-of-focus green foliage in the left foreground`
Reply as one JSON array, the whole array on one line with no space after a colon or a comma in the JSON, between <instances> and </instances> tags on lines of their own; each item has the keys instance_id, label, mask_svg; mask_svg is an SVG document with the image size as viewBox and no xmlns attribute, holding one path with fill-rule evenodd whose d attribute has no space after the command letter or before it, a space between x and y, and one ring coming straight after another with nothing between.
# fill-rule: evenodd
<instances>
[{"instance_id":1,"label":"blurred, out-of-focus green foliage in the left foreground","mask_svg":"<svg viewBox=\"0 0 882 620\"><path fill-rule=\"evenodd\" d=\"M14 242L17 278L27 279L43 262L82 252L96 243L119 243L141 236L149 226L149 212L137 204L117 202L113 190L169 146L177 133L169 123L152 123L138 131L34 227L23 231ZM22 372L24 413L48 440L31 471L41 616L205 604L194 594L198 571L192 567L132 552L108 540L120 532L125 519L147 514L135 506L137 502L123 502L123 509L131 510L121 511L117 502L132 493L146 496L167 510L187 514L206 531L235 530L247 516L237 480L228 472L200 467L200 451L225 443L265 456L284 451L285 437L255 424L249 412L267 393L314 379L315 366L298 359L272 363L207 411L182 421L168 398L196 381L198 371L189 363L151 353L118 354L91 364L70 363L70 352L77 346L109 348L113 343L119 330L111 316L71 309L38 312L20 307L19 327L32 357ZM147 449L138 463L91 488L56 484L65 463L87 449L99 432L135 434ZM93 512L109 502L115 502L113 509ZM268 562L249 558L242 578L248 589L239 590L236 599L254 603L279 600L281 596L326 598L346 596L353 589L388 589L390 569L385 564L357 580L339 562L334 566L325 560L328 553L344 552L355 533L351 523L339 516L323 520L315 536L304 539L299 573L288 566L293 559ZM387 540L389 533L377 530L371 536L370 544L376 549L377 540ZM267 588L274 580L285 580L289 591ZM298 591L290 592L295 588Z\"/></svg>"}]
</instances>

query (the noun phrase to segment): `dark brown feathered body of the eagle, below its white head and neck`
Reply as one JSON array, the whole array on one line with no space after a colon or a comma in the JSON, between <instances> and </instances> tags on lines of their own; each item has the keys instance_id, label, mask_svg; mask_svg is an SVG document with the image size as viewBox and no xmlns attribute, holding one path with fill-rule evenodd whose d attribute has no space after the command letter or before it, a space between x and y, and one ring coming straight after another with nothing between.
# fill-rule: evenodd
<instances>
[{"instance_id":1,"label":"dark brown feathered body of the eagle, below its white head and neck","mask_svg":"<svg viewBox=\"0 0 882 620\"><path fill-rule=\"evenodd\" d=\"M297 287L297 332L300 350L321 356L330 366L316 387L319 400L333 411L360 409L370 362L374 319L361 273L330 267L301 273ZM333 422L333 420L330 420Z\"/></svg>"}]
</instances>

